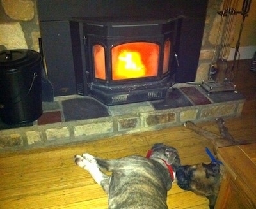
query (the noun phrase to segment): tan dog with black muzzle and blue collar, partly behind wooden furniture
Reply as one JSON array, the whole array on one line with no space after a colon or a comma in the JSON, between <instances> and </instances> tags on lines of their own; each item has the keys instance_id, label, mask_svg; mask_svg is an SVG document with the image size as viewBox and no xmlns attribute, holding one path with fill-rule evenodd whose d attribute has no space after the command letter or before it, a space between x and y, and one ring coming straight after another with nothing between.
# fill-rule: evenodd
<instances>
[{"instance_id":1,"label":"tan dog with black muzzle and blue collar, partly behind wooden furniture","mask_svg":"<svg viewBox=\"0 0 256 209\"><path fill-rule=\"evenodd\" d=\"M224 120L222 118L216 119L216 122L221 136L206 131L190 121L185 122L184 126L212 140L214 154L217 153L219 147L246 143L246 141L243 140L235 140L230 133L228 133L228 129L224 126ZM213 209L220 189L223 171L224 167L219 162L180 166L177 169L177 184L184 190L193 191L196 194L206 196L209 199L209 207Z\"/></svg>"}]
</instances>

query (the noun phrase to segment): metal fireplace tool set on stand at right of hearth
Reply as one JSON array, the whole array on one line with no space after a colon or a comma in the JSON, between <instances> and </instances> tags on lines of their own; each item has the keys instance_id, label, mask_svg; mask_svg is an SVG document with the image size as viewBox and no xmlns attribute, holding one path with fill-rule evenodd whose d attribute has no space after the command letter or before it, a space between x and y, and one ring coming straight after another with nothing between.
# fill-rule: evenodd
<instances>
[{"instance_id":1,"label":"metal fireplace tool set on stand at right of hearth","mask_svg":"<svg viewBox=\"0 0 256 209\"><path fill-rule=\"evenodd\" d=\"M202 87L209 93L235 90L236 86L231 81L234 78L233 71L239 50L239 41L243 31L245 17L248 16L250 10L251 1L252 0L244 0L242 10L236 11L238 0L225 0L223 10L218 11L218 14L221 15L221 20L209 69L209 81L202 82ZM241 22L232 68L228 68L227 57L229 54L228 49L230 48L230 34L234 27L234 17L237 14L243 15L243 21Z\"/></svg>"}]
</instances>

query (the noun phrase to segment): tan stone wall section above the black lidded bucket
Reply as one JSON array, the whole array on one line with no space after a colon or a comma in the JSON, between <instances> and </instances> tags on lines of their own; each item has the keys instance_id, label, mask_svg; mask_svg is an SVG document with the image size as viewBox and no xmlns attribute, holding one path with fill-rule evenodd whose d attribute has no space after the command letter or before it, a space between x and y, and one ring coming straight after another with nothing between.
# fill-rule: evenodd
<instances>
[{"instance_id":1,"label":"tan stone wall section above the black lidded bucket","mask_svg":"<svg viewBox=\"0 0 256 209\"><path fill-rule=\"evenodd\" d=\"M23 48L39 52L39 37L35 0L0 1L0 50Z\"/></svg>"}]
</instances>

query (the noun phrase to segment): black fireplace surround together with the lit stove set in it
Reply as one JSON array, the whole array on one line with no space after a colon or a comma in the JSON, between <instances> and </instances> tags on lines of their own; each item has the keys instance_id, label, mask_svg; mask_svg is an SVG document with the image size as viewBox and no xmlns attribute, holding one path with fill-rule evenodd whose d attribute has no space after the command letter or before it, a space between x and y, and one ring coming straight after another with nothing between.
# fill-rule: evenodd
<instances>
[{"instance_id":1,"label":"black fireplace surround together with the lit stove set in it","mask_svg":"<svg viewBox=\"0 0 256 209\"><path fill-rule=\"evenodd\" d=\"M195 80L207 1L37 4L54 96L117 105L163 99L173 83Z\"/></svg>"}]
</instances>

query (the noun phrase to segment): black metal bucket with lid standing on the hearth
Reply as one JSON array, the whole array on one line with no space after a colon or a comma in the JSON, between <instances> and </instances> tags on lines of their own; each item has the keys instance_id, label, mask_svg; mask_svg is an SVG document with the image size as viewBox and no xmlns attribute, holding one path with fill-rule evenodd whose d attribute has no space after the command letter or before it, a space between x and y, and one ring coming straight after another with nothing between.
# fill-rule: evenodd
<instances>
[{"instance_id":1,"label":"black metal bucket with lid standing on the hearth","mask_svg":"<svg viewBox=\"0 0 256 209\"><path fill-rule=\"evenodd\" d=\"M0 118L6 124L42 115L42 57L33 50L0 52Z\"/></svg>"}]
</instances>

